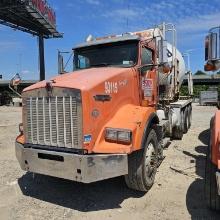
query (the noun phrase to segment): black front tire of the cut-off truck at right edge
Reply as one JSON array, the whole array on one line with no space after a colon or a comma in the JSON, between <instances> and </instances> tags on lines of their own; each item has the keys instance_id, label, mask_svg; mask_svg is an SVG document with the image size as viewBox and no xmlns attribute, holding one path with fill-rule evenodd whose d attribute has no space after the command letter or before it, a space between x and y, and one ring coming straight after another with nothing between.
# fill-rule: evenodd
<instances>
[{"instance_id":1,"label":"black front tire of the cut-off truck at right edge","mask_svg":"<svg viewBox=\"0 0 220 220\"><path fill-rule=\"evenodd\" d=\"M215 211L220 210L220 196L218 195L217 182L215 172L217 167L212 163L210 158L210 150L206 156L205 168L205 200L207 206Z\"/></svg>"}]
</instances>

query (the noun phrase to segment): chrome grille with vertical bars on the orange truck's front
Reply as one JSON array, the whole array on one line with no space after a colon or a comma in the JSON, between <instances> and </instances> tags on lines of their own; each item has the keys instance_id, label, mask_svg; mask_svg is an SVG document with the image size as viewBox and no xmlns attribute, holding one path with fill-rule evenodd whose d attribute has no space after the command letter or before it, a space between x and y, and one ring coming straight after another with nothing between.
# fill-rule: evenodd
<instances>
[{"instance_id":1,"label":"chrome grille with vertical bars on the orange truck's front","mask_svg":"<svg viewBox=\"0 0 220 220\"><path fill-rule=\"evenodd\" d=\"M82 148L82 110L76 97L28 97L25 110L27 143Z\"/></svg>"}]
</instances>

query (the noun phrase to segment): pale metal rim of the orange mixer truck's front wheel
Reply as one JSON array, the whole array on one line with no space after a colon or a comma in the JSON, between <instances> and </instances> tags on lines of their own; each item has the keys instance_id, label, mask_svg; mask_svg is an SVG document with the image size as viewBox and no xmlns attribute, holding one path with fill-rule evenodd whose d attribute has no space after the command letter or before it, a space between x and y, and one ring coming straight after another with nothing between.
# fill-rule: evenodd
<instances>
[{"instance_id":1,"label":"pale metal rim of the orange mixer truck's front wheel","mask_svg":"<svg viewBox=\"0 0 220 220\"><path fill-rule=\"evenodd\" d=\"M145 166L147 176L151 177L156 167L156 152L152 142L147 146L145 155Z\"/></svg>"}]
</instances>

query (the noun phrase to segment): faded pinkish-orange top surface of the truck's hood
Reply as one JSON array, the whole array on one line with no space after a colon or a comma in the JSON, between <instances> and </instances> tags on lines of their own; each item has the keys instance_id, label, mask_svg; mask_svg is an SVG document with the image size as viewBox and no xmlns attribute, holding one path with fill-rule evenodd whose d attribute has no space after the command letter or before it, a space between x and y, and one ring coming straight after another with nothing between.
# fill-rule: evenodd
<instances>
[{"instance_id":1,"label":"faded pinkish-orange top surface of the truck's hood","mask_svg":"<svg viewBox=\"0 0 220 220\"><path fill-rule=\"evenodd\" d=\"M98 84L105 82L106 80L118 76L120 74L129 71L131 68L118 68L118 67L99 67L89 68L71 73L66 73L53 77L51 81L54 87L62 88L75 88L80 90L90 90ZM31 85L24 89L23 92L44 88L46 86L46 80Z\"/></svg>"}]
</instances>

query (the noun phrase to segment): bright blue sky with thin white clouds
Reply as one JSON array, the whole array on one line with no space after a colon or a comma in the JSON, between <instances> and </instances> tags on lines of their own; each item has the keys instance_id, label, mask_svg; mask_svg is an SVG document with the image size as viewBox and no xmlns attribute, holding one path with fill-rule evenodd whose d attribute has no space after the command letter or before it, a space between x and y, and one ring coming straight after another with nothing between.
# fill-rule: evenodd
<instances>
[{"instance_id":1,"label":"bright blue sky with thin white clouds","mask_svg":"<svg viewBox=\"0 0 220 220\"><path fill-rule=\"evenodd\" d=\"M220 25L220 0L49 0L63 39L45 41L46 77L57 74L57 49L71 48L86 36L120 34L172 22L178 31L178 49L190 50L191 69L203 70L204 37ZM0 26L0 74L4 79L21 72L38 79L37 38Z\"/></svg>"}]
</instances>

